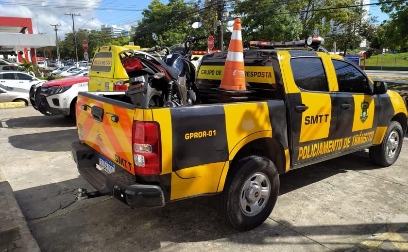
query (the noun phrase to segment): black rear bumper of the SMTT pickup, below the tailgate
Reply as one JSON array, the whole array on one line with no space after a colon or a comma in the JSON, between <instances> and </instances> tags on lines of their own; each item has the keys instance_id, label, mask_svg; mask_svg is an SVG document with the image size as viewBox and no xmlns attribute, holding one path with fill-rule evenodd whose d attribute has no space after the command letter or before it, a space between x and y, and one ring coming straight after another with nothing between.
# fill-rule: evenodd
<instances>
[{"instance_id":1,"label":"black rear bumper of the SMTT pickup, below the tailgate","mask_svg":"<svg viewBox=\"0 0 408 252\"><path fill-rule=\"evenodd\" d=\"M95 164L99 163L99 153L85 143L72 143L71 152L78 172L102 194L112 195L133 207L160 207L166 204L159 186L138 184L135 176L125 170L107 175L98 170Z\"/></svg>"}]
</instances>

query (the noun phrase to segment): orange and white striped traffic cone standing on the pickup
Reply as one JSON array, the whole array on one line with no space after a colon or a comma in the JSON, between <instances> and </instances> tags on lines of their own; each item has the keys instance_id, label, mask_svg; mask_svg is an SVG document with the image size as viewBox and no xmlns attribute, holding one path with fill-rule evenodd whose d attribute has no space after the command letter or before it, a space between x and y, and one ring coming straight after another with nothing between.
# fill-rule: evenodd
<instances>
[{"instance_id":1,"label":"orange and white striped traffic cone standing on the pickup","mask_svg":"<svg viewBox=\"0 0 408 252\"><path fill-rule=\"evenodd\" d=\"M225 68L222 73L220 89L231 91L246 91L245 67L242 48L241 20L236 18L228 47Z\"/></svg>"}]
</instances>

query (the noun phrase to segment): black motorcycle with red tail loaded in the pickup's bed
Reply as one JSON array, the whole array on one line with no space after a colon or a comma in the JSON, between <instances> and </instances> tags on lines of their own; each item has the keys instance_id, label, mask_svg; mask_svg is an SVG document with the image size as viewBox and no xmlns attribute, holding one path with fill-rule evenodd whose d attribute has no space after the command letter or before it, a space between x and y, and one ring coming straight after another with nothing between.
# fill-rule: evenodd
<instances>
[{"instance_id":1,"label":"black motorcycle with red tail loaded in the pickup's bed","mask_svg":"<svg viewBox=\"0 0 408 252\"><path fill-rule=\"evenodd\" d=\"M126 95L141 108L192 105L197 101L196 69L190 59L194 42L206 38L187 37L184 47L170 51L168 47L154 47L145 51L126 50L119 58L129 76ZM161 60L154 51L165 52Z\"/></svg>"}]
</instances>

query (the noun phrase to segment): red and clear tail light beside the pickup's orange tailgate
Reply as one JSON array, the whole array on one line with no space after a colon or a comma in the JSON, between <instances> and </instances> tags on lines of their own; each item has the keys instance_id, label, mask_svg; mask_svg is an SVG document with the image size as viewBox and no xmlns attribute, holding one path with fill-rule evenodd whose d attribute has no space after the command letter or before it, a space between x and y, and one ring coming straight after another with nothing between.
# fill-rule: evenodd
<instances>
[{"instance_id":1,"label":"red and clear tail light beside the pickup's orange tailgate","mask_svg":"<svg viewBox=\"0 0 408 252\"><path fill-rule=\"evenodd\" d=\"M135 121L132 146L137 174L157 175L161 173L160 126L158 123Z\"/></svg>"}]
</instances>

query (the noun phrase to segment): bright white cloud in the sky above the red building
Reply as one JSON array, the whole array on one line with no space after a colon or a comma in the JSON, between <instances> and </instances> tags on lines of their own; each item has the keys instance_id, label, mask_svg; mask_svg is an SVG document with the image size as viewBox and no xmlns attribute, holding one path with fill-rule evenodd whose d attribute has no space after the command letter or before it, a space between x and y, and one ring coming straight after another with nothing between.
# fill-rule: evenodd
<instances>
[{"instance_id":1,"label":"bright white cloud in the sky above the red building","mask_svg":"<svg viewBox=\"0 0 408 252\"><path fill-rule=\"evenodd\" d=\"M9 3L16 3L14 0L8 1ZM96 8L99 6L100 1L96 0L85 0L83 4L87 3L86 6L90 8ZM36 2L33 2L36 4ZM19 4L19 3L16 3ZM68 8L50 8L44 7L47 5L58 5L58 6L81 6L80 2L73 2L73 1L66 1L61 0L58 3L55 2L43 2L43 7L37 6L23 6L23 5L6 5L0 4L0 16L11 16L11 17L29 17L33 23L33 33L47 33L47 34L55 34L54 27L51 26L51 22L53 25L59 24L61 27L58 27L58 37L64 38L65 33L72 32L72 17L65 16L64 13L75 13L81 14L81 16L74 16L75 20L75 30L77 31L79 28L83 27L83 29L100 29L102 22L98 20L96 17L96 12L94 10L84 10L84 9L73 9L72 7ZM92 6L95 5L95 6ZM37 23L38 18L38 23ZM89 21L88 21L89 20ZM87 22L87 23L86 23ZM37 31L38 26L38 31Z\"/></svg>"}]
</instances>

